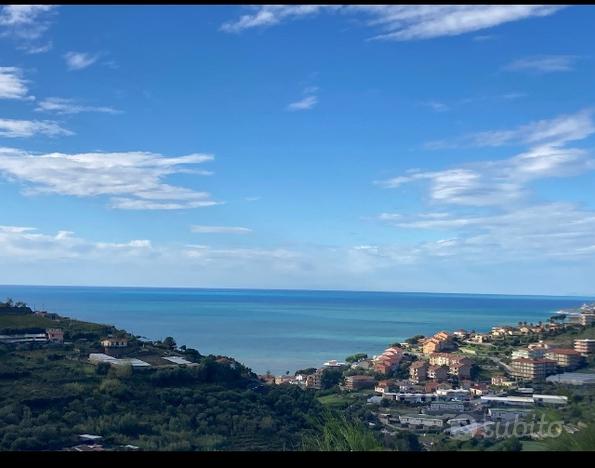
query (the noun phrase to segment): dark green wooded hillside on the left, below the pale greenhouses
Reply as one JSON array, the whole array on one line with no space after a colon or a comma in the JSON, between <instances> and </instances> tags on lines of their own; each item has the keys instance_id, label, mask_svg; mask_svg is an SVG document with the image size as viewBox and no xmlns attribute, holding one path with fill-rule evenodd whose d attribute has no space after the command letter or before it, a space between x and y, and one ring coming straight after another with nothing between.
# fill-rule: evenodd
<instances>
[{"instance_id":1,"label":"dark green wooded hillside on the left, below the pale greenhouses","mask_svg":"<svg viewBox=\"0 0 595 468\"><path fill-rule=\"evenodd\" d=\"M49 320L18 309L0 308L0 328ZM88 353L115 329L50 321L72 344L0 344L0 450L59 450L83 433L145 450L295 450L316 433L314 392L264 386L236 361L196 350L184 353L196 367L93 366Z\"/></svg>"}]
</instances>

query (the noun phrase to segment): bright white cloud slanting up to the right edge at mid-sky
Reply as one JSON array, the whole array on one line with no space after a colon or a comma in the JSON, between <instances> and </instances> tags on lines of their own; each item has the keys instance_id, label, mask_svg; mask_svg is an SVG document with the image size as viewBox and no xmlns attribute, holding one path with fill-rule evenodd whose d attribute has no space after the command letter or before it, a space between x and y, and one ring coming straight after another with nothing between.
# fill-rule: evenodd
<instances>
[{"instance_id":1,"label":"bright white cloud slanting up to the right edge at mid-sky","mask_svg":"<svg viewBox=\"0 0 595 468\"><path fill-rule=\"evenodd\" d=\"M568 148L595 132L591 113L581 111L552 120L534 122L515 130L474 134L476 146L500 146L510 142L532 145L526 152L503 160L470 163L442 171L410 171L376 182L385 188L428 181L433 202L467 206L506 205L522 199L526 185L548 177L566 177L595 168L587 151Z\"/></svg>"}]
</instances>

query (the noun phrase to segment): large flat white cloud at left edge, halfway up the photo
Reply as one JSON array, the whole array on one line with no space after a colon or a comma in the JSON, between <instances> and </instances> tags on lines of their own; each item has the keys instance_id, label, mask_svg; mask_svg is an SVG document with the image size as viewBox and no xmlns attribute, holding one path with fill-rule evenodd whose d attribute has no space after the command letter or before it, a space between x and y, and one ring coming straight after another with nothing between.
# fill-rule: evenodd
<instances>
[{"instance_id":1,"label":"large flat white cloud at left edge, halfway up the photo","mask_svg":"<svg viewBox=\"0 0 595 468\"><path fill-rule=\"evenodd\" d=\"M31 154L0 148L0 173L25 184L26 194L108 196L119 209L175 210L215 205L207 192L169 185L166 177L213 159L146 152ZM201 172L190 170L192 173Z\"/></svg>"}]
</instances>

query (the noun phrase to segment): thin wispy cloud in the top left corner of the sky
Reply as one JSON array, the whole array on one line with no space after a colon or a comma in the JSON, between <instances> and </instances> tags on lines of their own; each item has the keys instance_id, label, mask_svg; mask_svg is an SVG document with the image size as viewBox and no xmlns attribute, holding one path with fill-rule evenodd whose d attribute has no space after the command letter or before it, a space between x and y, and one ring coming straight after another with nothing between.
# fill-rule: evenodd
<instances>
[{"instance_id":1,"label":"thin wispy cloud in the top left corner of the sky","mask_svg":"<svg viewBox=\"0 0 595 468\"><path fill-rule=\"evenodd\" d=\"M53 5L5 5L0 9L0 36L17 40L27 53L47 52L51 41L40 41L55 9Z\"/></svg>"}]
</instances>

